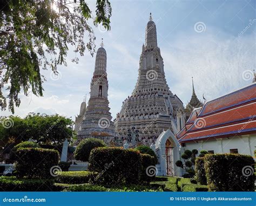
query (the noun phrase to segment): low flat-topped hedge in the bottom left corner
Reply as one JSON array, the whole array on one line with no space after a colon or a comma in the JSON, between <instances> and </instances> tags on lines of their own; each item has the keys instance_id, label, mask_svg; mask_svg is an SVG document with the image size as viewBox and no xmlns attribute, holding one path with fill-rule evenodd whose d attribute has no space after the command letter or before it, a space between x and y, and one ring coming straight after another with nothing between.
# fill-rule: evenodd
<instances>
[{"instance_id":1,"label":"low flat-topped hedge in the bottom left corner","mask_svg":"<svg viewBox=\"0 0 256 206\"><path fill-rule=\"evenodd\" d=\"M0 191L52 191L53 180L0 177Z\"/></svg>"}]
</instances>

